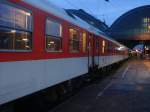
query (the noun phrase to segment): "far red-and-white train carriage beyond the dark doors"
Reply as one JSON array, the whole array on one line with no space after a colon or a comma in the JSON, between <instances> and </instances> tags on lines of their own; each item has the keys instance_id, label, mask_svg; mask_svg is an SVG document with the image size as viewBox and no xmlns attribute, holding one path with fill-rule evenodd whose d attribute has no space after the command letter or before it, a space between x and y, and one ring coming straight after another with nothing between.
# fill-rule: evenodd
<instances>
[{"instance_id":1,"label":"far red-and-white train carriage beyond the dark doors","mask_svg":"<svg viewBox=\"0 0 150 112\"><path fill-rule=\"evenodd\" d=\"M100 36L99 68L112 65L128 58L128 48L108 39L104 35Z\"/></svg>"}]
</instances>

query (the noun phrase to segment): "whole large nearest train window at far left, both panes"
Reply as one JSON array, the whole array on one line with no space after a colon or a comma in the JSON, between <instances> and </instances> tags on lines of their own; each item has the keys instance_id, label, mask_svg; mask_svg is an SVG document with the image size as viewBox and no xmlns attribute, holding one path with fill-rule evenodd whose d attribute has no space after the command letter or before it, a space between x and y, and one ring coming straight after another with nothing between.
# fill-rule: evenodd
<instances>
[{"instance_id":1,"label":"whole large nearest train window at far left, both panes","mask_svg":"<svg viewBox=\"0 0 150 112\"><path fill-rule=\"evenodd\" d=\"M28 51L31 49L31 13L0 3L0 51Z\"/></svg>"}]
</instances>

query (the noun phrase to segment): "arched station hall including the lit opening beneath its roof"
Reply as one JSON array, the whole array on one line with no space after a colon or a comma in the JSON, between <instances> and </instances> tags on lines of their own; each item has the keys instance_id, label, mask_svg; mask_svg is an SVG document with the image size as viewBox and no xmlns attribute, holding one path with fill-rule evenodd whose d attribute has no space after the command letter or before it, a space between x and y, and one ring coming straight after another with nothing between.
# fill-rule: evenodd
<instances>
[{"instance_id":1,"label":"arched station hall including the lit opening beneath its roof","mask_svg":"<svg viewBox=\"0 0 150 112\"><path fill-rule=\"evenodd\" d=\"M112 38L149 58L150 5L132 9L120 16L109 28Z\"/></svg>"}]
</instances>

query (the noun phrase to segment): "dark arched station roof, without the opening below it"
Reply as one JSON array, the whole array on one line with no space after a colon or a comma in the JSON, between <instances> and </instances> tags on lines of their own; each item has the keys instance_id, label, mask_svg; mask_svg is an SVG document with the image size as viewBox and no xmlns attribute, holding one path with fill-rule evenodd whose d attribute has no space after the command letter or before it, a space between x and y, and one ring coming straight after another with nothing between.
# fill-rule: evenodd
<instances>
[{"instance_id":1,"label":"dark arched station roof, without the opening below it","mask_svg":"<svg viewBox=\"0 0 150 112\"><path fill-rule=\"evenodd\" d=\"M150 40L150 5L135 8L119 17L108 29L116 40Z\"/></svg>"}]
</instances>

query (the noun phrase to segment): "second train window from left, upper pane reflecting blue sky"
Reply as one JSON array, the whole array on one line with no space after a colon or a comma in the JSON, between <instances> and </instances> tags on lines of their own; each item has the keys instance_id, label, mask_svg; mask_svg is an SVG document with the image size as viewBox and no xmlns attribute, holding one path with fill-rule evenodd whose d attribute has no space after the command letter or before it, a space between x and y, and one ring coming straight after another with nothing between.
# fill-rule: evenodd
<instances>
[{"instance_id":1,"label":"second train window from left, upper pane reflecting blue sky","mask_svg":"<svg viewBox=\"0 0 150 112\"><path fill-rule=\"evenodd\" d=\"M60 23L46 20L46 49L50 52L62 50L62 26Z\"/></svg>"}]
</instances>

